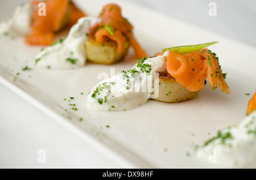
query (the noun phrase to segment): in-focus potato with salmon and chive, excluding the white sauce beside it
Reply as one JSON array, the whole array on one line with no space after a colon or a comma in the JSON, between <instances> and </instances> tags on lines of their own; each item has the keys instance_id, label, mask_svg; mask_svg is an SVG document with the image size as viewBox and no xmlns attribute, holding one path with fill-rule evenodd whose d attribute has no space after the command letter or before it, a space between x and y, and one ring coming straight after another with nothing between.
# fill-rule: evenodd
<instances>
[{"instance_id":1,"label":"in-focus potato with salmon and chive, excluding the white sauce beside it","mask_svg":"<svg viewBox=\"0 0 256 180\"><path fill-rule=\"evenodd\" d=\"M159 96L155 100L189 100L203 89L207 78L212 89L219 87L221 91L229 94L229 87L225 82L226 74L222 74L216 54L208 49L196 50L214 43L216 42L164 49L163 52L169 51L166 71L159 72Z\"/></svg>"}]
</instances>

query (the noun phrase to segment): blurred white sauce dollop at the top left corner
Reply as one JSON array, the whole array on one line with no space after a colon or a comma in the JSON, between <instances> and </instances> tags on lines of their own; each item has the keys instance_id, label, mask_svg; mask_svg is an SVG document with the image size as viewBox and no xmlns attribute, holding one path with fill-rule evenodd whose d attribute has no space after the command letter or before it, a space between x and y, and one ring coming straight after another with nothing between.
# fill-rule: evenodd
<instances>
[{"instance_id":1,"label":"blurred white sauce dollop at the top left corner","mask_svg":"<svg viewBox=\"0 0 256 180\"><path fill-rule=\"evenodd\" d=\"M24 3L16 7L11 19L0 24L1 35L26 36L30 33L32 6Z\"/></svg>"}]
</instances>

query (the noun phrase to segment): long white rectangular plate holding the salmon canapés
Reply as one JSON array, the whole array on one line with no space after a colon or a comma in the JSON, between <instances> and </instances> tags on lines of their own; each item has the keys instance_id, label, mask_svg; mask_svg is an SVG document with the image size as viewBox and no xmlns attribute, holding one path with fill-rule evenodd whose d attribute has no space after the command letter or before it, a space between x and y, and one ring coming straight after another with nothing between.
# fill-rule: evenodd
<instances>
[{"instance_id":1,"label":"long white rectangular plate holding the salmon canap\u00e9s","mask_svg":"<svg viewBox=\"0 0 256 180\"><path fill-rule=\"evenodd\" d=\"M86 96L100 82L97 75L110 75L110 68L115 68L115 73L129 70L137 61L132 50L115 65L86 63L75 70L37 69L34 60L41 48L26 46L23 38L8 36L0 37L0 82L112 157L122 168L212 167L187 155L193 155L195 144L203 144L217 130L236 125L244 117L249 100L245 93L253 94L256 89L256 49L128 1L112 2L122 7L123 16L133 24L135 36L150 55L171 46L220 41L209 49L217 53L222 70L228 73L230 96L220 89L212 91L207 84L199 96L187 102L150 100L125 112L88 112ZM97 16L108 1L77 3L87 14ZM3 8L1 22L6 20ZM25 66L32 70L22 71ZM75 97L71 103L76 104L76 112L64 101L69 97Z\"/></svg>"}]
</instances>

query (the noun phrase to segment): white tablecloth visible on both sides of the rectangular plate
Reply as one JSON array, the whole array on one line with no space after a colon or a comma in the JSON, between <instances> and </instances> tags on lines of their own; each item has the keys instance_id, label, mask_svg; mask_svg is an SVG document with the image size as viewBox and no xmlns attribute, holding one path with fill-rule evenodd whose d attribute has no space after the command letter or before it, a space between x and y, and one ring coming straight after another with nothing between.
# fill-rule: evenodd
<instances>
[{"instance_id":1,"label":"white tablecloth visible on both sides of the rectangular plate","mask_svg":"<svg viewBox=\"0 0 256 180\"><path fill-rule=\"evenodd\" d=\"M212 1L133 1L256 46L254 0L214 1L217 16L208 15ZM0 168L120 167L2 84L0 95ZM42 152L46 163L40 163Z\"/></svg>"}]
</instances>

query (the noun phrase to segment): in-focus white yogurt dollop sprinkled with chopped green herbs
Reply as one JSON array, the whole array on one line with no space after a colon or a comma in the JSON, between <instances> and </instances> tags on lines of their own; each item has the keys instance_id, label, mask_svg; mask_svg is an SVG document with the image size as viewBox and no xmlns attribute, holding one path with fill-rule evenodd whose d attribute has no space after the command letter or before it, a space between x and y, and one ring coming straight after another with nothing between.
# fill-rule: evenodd
<instances>
[{"instance_id":1,"label":"in-focus white yogurt dollop sprinkled with chopped green herbs","mask_svg":"<svg viewBox=\"0 0 256 180\"><path fill-rule=\"evenodd\" d=\"M100 111L123 111L146 104L155 90L155 72L166 70L167 53L154 58L142 58L129 71L98 83L87 97L88 108Z\"/></svg>"}]
</instances>

